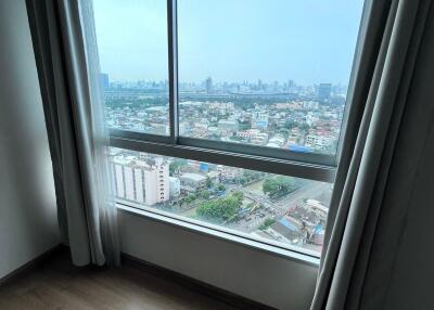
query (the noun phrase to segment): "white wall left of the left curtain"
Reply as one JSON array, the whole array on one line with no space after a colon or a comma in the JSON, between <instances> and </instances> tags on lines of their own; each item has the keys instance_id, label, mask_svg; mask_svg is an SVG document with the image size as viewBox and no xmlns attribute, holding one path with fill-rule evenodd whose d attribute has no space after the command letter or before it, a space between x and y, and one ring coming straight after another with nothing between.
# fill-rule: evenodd
<instances>
[{"instance_id":1,"label":"white wall left of the left curtain","mask_svg":"<svg viewBox=\"0 0 434 310\"><path fill-rule=\"evenodd\" d=\"M24 0L0 1L0 277L60 243Z\"/></svg>"}]
</instances>

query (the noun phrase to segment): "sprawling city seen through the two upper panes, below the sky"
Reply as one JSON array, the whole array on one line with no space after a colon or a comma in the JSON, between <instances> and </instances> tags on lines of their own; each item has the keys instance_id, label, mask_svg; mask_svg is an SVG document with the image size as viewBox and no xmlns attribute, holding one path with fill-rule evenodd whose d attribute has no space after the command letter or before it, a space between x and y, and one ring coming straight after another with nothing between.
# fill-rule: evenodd
<instances>
[{"instance_id":1,"label":"sprawling city seen through the two upper panes, below the sky","mask_svg":"<svg viewBox=\"0 0 434 310\"><path fill-rule=\"evenodd\" d=\"M108 76L103 76L108 85ZM153 134L169 134L167 82L137 82L104 89L107 125ZM304 153L334 154L346 88L266 85L179 87L179 134Z\"/></svg>"}]
</instances>

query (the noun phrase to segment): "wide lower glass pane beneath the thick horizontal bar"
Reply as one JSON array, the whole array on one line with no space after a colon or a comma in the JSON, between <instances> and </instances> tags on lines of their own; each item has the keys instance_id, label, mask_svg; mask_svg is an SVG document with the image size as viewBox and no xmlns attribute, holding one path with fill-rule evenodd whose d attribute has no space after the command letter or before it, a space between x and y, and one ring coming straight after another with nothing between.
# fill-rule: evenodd
<instances>
[{"instance_id":1,"label":"wide lower glass pane beneath the thick horizontal bar","mask_svg":"<svg viewBox=\"0 0 434 310\"><path fill-rule=\"evenodd\" d=\"M319 254L332 185L222 165L111 148L117 198Z\"/></svg>"}]
</instances>

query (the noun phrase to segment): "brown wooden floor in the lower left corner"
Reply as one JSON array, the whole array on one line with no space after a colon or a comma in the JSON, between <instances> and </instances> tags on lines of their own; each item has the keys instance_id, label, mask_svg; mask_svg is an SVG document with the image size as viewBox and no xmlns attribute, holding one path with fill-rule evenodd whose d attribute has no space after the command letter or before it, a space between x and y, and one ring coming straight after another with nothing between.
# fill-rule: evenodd
<instances>
[{"instance_id":1,"label":"brown wooden floor in the lower left corner","mask_svg":"<svg viewBox=\"0 0 434 310\"><path fill-rule=\"evenodd\" d=\"M0 309L235 309L133 267L75 268L65 254L0 287Z\"/></svg>"}]
</instances>

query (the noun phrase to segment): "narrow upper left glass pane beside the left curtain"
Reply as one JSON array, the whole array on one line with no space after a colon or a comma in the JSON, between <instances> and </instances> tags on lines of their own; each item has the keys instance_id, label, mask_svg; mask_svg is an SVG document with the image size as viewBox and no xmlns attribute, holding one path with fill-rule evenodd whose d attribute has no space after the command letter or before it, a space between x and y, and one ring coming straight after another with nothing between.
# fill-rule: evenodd
<instances>
[{"instance_id":1,"label":"narrow upper left glass pane beside the left curtain","mask_svg":"<svg viewBox=\"0 0 434 310\"><path fill-rule=\"evenodd\" d=\"M93 7L107 125L169 134L166 1L94 0Z\"/></svg>"}]
</instances>

